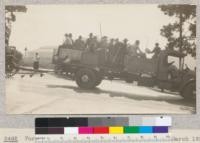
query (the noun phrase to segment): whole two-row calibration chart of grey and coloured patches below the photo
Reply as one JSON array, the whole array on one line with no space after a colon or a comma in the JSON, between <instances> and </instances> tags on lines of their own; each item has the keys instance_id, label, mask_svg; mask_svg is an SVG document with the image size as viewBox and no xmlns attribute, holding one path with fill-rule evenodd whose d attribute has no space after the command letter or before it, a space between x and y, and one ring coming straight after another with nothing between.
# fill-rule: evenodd
<instances>
[{"instance_id":1,"label":"whole two-row calibration chart of grey and coloured patches below the photo","mask_svg":"<svg viewBox=\"0 0 200 143\"><path fill-rule=\"evenodd\" d=\"M158 121L155 118L155 121ZM152 124L152 125L150 125ZM170 120L162 117L159 123L143 118L141 125L131 125L128 118L37 118L35 134L139 134L168 133Z\"/></svg>"}]
</instances>

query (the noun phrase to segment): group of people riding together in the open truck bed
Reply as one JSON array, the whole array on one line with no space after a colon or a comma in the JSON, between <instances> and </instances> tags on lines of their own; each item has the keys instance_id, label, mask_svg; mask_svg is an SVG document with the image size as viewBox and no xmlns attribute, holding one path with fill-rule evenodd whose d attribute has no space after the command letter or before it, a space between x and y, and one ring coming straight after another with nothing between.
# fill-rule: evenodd
<instances>
[{"instance_id":1,"label":"group of people riding together in the open truck bed","mask_svg":"<svg viewBox=\"0 0 200 143\"><path fill-rule=\"evenodd\" d=\"M126 55L139 56L146 58L146 54L140 49L140 41L136 40L133 45L128 44L128 39L119 41L118 38L108 40L107 36L103 36L100 40L93 33L89 34L86 41L83 40L82 36L79 36L75 41L72 38L72 34L65 34L65 40L63 46L72 49L79 49L98 53L100 56L99 61L107 64L117 64L123 66L124 58ZM160 52L159 44L155 44L155 48L149 53L154 53L153 58L158 56ZM106 62L105 62L106 61Z\"/></svg>"}]
</instances>

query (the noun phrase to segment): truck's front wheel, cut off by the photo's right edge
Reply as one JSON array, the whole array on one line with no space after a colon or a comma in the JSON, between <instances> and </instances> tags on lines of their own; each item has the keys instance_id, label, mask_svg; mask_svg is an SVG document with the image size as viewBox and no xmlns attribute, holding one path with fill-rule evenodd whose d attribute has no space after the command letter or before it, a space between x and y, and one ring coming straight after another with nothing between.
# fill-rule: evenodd
<instances>
[{"instance_id":1,"label":"truck's front wheel, cut off by the photo's right edge","mask_svg":"<svg viewBox=\"0 0 200 143\"><path fill-rule=\"evenodd\" d=\"M186 85L181 91L181 96L184 97L184 99L194 99L196 97L196 84L189 83Z\"/></svg>"}]
</instances>

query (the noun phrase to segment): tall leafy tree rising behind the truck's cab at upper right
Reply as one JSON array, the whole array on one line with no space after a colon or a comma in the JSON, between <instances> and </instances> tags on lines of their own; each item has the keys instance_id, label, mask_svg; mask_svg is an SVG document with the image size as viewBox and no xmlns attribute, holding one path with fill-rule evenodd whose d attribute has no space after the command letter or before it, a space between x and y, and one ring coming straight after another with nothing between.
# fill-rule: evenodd
<instances>
[{"instance_id":1,"label":"tall leafy tree rising behind the truck's cab at upper right","mask_svg":"<svg viewBox=\"0 0 200 143\"><path fill-rule=\"evenodd\" d=\"M175 18L164 25L161 35L168 40L167 48L196 57L196 5L159 5L165 15Z\"/></svg>"}]
</instances>

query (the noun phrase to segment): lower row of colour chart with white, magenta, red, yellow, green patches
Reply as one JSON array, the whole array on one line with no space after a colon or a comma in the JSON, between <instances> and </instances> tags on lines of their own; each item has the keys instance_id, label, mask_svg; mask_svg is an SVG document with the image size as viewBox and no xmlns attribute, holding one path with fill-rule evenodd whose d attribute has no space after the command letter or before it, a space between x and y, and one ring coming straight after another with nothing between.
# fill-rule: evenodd
<instances>
[{"instance_id":1,"label":"lower row of colour chart with white, magenta, red, yellow, green patches","mask_svg":"<svg viewBox=\"0 0 200 143\"><path fill-rule=\"evenodd\" d=\"M36 128L35 134L136 134L168 133L167 126L126 126L126 127L64 127Z\"/></svg>"}]
</instances>

